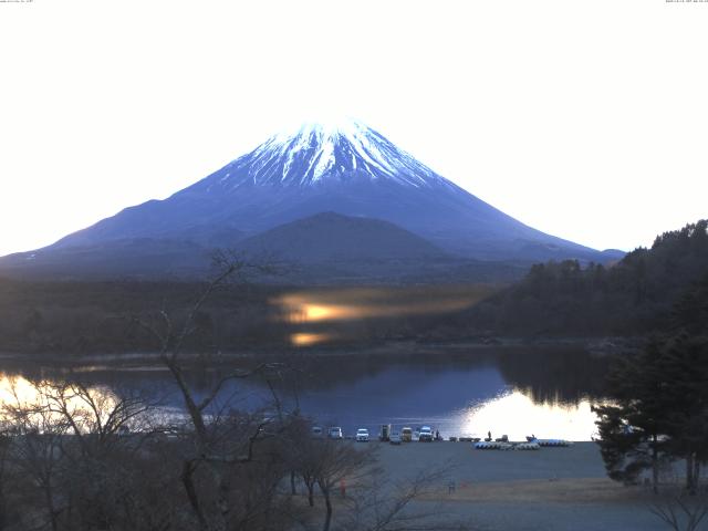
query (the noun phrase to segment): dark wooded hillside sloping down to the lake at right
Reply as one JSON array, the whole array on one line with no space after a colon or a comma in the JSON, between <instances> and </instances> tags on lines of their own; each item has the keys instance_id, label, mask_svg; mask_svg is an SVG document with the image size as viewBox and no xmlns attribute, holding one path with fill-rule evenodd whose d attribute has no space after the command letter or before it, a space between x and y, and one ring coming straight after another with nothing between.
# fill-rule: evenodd
<instances>
[{"instance_id":1,"label":"dark wooded hillside sloping down to the lake at right","mask_svg":"<svg viewBox=\"0 0 708 531\"><path fill-rule=\"evenodd\" d=\"M660 330L671 306L708 281L708 221L656 238L613 267L537 264L527 277L456 319L507 335L633 335Z\"/></svg>"}]
</instances>

